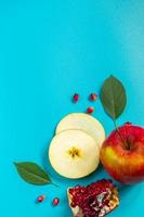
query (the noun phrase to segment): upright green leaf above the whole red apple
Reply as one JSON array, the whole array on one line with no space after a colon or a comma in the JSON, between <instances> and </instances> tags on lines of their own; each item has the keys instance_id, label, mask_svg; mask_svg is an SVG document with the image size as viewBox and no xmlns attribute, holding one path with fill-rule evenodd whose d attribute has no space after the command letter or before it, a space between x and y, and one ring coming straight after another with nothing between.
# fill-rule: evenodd
<instances>
[{"instance_id":1,"label":"upright green leaf above the whole red apple","mask_svg":"<svg viewBox=\"0 0 144 217\"><path fill-rule=\"evenodd\" d=\"M107 78L101 90L101 101L106 113L115 120L127 104L126 89L116 77Z\"/></svg>"}]
</instances>

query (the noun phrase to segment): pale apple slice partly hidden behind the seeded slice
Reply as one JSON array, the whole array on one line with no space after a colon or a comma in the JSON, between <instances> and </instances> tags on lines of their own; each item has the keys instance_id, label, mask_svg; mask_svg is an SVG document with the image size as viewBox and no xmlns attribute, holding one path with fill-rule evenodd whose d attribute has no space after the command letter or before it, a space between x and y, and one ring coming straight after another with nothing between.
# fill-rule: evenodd
<instances>
[{"instance_id":1,"label":"pale apple slice partly hidden behind the seeded slice","mask_svg":"<svg viewBox=\"0 0 144 217\"><path fill-rule=\"evenodd\" d=\"M84 113L71 113L65 116L56 127L56 133L67 129L80 129L92 136L101 148L105 140L105 130L94 117Z\"/></svg>"}]
</instances>

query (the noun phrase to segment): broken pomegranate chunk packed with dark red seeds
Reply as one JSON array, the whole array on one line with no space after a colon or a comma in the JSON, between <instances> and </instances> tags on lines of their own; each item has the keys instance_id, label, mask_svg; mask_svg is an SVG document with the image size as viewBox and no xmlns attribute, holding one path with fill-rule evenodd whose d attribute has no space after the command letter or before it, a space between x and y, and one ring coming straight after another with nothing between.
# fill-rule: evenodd
<instances>
[{"instance_id":1,"label":"broken pomegranate chunk packed with dark red seeds","mask_svg":"<svg viewBox=\"0 0 144 217\"><path fill-rule=\"evenodd\" d=\"M74 217L103 217L119 204L117 188L106 179L68 189L68 200Z\"/></svg>"}]
</instances>

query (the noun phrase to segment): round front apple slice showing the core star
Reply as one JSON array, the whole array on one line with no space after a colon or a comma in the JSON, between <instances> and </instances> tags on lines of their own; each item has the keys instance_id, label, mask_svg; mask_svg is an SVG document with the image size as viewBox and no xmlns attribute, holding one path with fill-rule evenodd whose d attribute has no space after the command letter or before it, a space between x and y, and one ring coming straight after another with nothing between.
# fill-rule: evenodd
<instances>
[{"instance_id":1,"label":"round front apple slice showing the core star","mask_svg":"<svg viewBox=\"0 0 144 217\"><path fill-rule=\"evenodd\" d=\"M65 130L56 135L49 148L52 167L67 178L81 178L96 169L100 150L93 139L82 130Z\"/></svg>"}]
</instances>

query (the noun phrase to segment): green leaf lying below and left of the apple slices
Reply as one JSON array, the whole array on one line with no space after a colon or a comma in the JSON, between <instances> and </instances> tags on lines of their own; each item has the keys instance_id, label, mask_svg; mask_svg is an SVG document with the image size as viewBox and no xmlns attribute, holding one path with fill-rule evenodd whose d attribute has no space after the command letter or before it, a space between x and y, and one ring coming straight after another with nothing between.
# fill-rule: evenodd
<instances>
[{"instance_id":1,"label":"green leaf lying below and left of the apple slices","mask_svg":"<svg viewBox=\"0 0 144 217\"><path fill-rule=\"evenodd\" d=\"M37 164L31 162L14 163L19 176L28 183L42 186L52 183L48 174Z\"/></svg>"}]
</instances>

